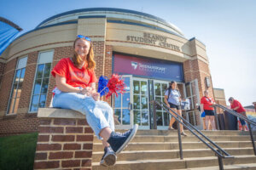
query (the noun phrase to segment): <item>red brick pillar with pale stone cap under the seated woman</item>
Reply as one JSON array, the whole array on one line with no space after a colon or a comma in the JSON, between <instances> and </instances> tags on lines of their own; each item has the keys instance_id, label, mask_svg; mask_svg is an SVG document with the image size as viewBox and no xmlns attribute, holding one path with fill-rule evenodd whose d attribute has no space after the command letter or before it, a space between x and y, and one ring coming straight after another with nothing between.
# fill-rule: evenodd
<instances>
[{"instance_id":1,"label":"red brick pillar with pale stone cap under the seated woman","mask_svg":"<svg viewBox=\"0 0 256 170\"><path fill-rule=\"evenodd\" d=\"M77 111L40 108L34 169L91 169L93 131Z\"/></svg>"}]
</instances>

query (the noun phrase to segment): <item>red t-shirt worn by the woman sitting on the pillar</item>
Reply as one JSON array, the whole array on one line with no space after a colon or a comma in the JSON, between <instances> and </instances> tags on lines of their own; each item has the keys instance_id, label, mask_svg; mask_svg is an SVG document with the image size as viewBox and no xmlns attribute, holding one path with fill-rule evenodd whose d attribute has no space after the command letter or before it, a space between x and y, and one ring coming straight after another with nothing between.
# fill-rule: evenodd
<instances>
[{"instance_id":1,"label":"red t-shirt worn by the woman sitting on the pillar","mask_svg":"<svg viewBox=\"0 0 256 170\"><path fill-rule=\"evenodd\" d=\"M53 77L59 75L66 78L66 83L73 87L86 88L90 82L97 82L97 78L94 70L86 69L84 65L81 69L73 65L73 61L70 58L61 59L55 68L51 71Z\"/></svg>"}]
</instances>

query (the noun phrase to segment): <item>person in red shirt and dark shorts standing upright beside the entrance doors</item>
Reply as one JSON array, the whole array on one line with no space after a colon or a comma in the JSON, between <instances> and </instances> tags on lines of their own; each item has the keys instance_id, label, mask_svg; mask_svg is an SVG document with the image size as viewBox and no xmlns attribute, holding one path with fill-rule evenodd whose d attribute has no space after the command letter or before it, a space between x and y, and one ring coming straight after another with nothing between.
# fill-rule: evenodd
<instances>
[{"instance_id":1,"label":"person in red shirt and dark shorts standing upright beside the entrance doors","mask_svg":"<svg viewBox=\"0 0 256 170\"><path fill-rule=\"evenodd\" d=\"M212 130L216 130L214 108L211 107L211 105L215 104L215 101L211 97L209 97L208 90L206 90L204 94L205 96L201 98L201 112L205 111L207 130L210 129L210 123L212 125Z\"/></svg>"}]
</instances>

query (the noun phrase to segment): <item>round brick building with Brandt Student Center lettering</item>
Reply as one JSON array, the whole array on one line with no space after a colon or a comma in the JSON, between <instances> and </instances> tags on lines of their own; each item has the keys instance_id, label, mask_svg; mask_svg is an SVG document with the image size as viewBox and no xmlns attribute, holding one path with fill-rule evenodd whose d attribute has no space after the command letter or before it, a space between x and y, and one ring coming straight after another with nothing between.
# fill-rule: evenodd
<instances>
[{"instance_id":1,"label":"round brick building with Brandt Student Center lettering","mask_svg":"<svg viewBox=\"0 0 256 170\"><path fill-rule=\"evenodd\" d=\"M96 76L113 73L125 79L126 92L108 99L118 128L152 127L151 100L164 99L176 81L190 100L183 116L202 127L197 110L205 89L214 97L206 46L186 39L176 26L151 14L120 8L84 8L57 14L15 39L0 58L0 133L38 131L37 111L49 107L55 79L51 69L73 56L78 34L91 38ZM158 129L167 129L170 116L156 110Z\"/></svg>"}]
</instances>

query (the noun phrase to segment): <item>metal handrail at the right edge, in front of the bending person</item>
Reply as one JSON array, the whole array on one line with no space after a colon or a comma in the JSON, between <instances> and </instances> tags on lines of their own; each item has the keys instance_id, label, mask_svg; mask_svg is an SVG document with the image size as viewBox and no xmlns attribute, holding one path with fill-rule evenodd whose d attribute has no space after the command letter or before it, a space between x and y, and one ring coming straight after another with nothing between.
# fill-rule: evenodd
<instances>
[{"instance_id":1,"label":"metal handrail at the right edge, in front of the bending person","mask_svg":"<svg viewBox=\"0 0 256 170\"><path fill-rule=\"evenodd\" d=\"M230 110L228 108L226 108L224 105L212 105L213 107L215 107L215 110L216 110L216 107L219 107L221 109L223 109L224 111L227 111L228 113L234 115L234 116L238 116L239 119L243 119L244 121L246 121L248 123L248 127L249 127L249 133L250 133L250 136L251 136L251 140L252 140L252 144L253 144L253 151L254 151L254 156L256 156L256 147L255 147L255 143L254 143L254 138L253 138L253 132L252 132L252 127L251 127L251 124L253 124L254 126L256 126L256 122L253 122L251 120L249 120L247 118L247 116L243 116L239 113L237 113L236 111L233 111L233 110Z\"/></svg>"}]
</instances>

